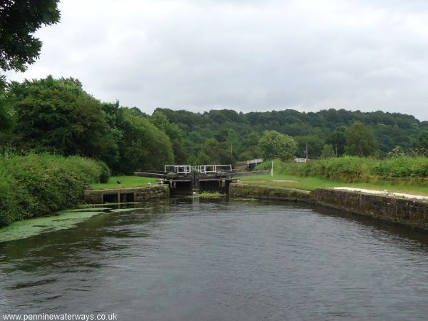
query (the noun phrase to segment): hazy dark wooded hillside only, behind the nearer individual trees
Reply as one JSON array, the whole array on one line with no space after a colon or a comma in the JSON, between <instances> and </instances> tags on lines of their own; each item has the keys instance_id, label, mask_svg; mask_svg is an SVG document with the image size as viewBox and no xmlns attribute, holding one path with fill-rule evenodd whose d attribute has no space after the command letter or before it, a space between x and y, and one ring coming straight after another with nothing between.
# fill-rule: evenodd
<instances>
[{"instance_id":1,"label":"hazy dark wooded hillside only, behind the nearer individual trees","mask_svg":"<svg viewBox=\"0 0 428 321\"><path fill-rule=\"evenodd\" d=\"M305 143L308 143L310 158L319 158L325 143L333 146L337 156L345 153L345 130L356 121L364 123L379 141L381 152L386 154L395 146L404 150L412 147L426 122L413 116L382 111L362 113L343 109L302 113L287 109L285 111L236 113L230 110L192 113L158 108L170 121L183 130L185 151L189 158L196 158L203 143L215 138L224 149L230 144L223 143L229 130L235 131L238 143L233 143L233 156L240 161L260 158L256 151L258 139L264 131L277 131L295 138L300 145L297 155L305 157Z\"/></svg>"}]
</instances>

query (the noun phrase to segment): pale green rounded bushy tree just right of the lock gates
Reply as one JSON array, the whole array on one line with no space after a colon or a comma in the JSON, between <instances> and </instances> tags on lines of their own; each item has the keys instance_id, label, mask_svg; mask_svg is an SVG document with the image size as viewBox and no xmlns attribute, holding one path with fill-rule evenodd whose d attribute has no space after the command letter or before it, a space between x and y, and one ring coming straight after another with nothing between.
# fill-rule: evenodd
<instances>
[{"instance_id":1,"label":"pale green rounded bushy tree just right of the lock gates","mask_svg":"<svg viewBox=\"0 0 428 321\"><path fill-rule=\"evenodd\" d=\"M265 131L258 146L265 160L280 158L282 161L289 161L295 156L297 149L294 139L277 131Z\"/></svg>"}]
</instances>

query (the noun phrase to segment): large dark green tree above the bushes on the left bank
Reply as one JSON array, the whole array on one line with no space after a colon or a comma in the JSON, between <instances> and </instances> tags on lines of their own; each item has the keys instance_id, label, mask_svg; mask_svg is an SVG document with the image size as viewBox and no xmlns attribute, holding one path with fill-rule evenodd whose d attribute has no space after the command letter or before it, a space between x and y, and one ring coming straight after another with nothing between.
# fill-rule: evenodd
<instances>
[{"instance_id":1,"label":"large dark green tree above the bushes on the left bank","mask_svg":"<svg viewBox=\"0 0 428 321\"><path fill-rule=\"evenodd\" d=\"M102 159L111 165L118 146L101 103L73 78L12 82L9 100L16 111L16 144L24 150L48 151Z\"/></svg>"}]
</instances>

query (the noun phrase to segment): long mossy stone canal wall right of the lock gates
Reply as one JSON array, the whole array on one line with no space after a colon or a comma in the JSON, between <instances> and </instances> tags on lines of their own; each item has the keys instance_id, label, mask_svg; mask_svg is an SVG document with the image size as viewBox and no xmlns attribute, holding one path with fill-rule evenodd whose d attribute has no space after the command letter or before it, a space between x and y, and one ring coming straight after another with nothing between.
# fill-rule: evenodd
<instances>
[{"instance_id":1,"label":"long mossy stone canal wall right of the lock gates","mask_svg":"<svg viewBox=\"0 0 428 321\"><path fill-rule=\"evenodd\" d=\"M230 184L229 193L232 197L315 203L411 228L428 230L428 200L417 198L416 195L411 198L412 195L400 196L346 188L325 188L309 192L296 188L243 183Z\"/></svg>"}]
</instances>

